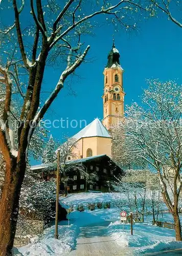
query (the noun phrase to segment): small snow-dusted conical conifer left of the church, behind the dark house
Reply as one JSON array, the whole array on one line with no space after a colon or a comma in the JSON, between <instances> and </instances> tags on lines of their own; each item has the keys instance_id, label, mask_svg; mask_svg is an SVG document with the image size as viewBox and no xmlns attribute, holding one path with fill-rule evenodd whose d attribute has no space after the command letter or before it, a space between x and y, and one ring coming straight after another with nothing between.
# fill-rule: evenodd
<instances>
[{"instance_id":1,"label":"small snow-dusted conical conifer left of the church, behind the dark house","mask_svg":"<svg viewBox=\"0 0 182 256\"><path fill-rule=\"evenodd\" d=\"M44 148L42 155L42 163L53 163L56 160L56 143L53 136L50 135L49 141Z\"/></svg>"}]
</instances>

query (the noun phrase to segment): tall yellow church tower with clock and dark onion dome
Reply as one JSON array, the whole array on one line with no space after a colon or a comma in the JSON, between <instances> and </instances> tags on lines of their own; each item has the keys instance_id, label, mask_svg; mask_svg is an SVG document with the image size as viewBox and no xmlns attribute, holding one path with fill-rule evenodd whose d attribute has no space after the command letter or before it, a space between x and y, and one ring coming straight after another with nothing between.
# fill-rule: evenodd
<instances>
[{"instance_id":1,"label":"tall yellow church tower with clock and dark onion dome","mask_svg":"<svg viewBox=\"0 0 182 256\"><path fill-rule=\"evenodd\" d=\"M107 57L107 65L104 69L104 94L103 98L103 120L102 123L107 130L112 124L118 122L124 115L123 72L120 66L120 53L115 48L113 41L112 49Z\"/></svg>"}]
</instances>

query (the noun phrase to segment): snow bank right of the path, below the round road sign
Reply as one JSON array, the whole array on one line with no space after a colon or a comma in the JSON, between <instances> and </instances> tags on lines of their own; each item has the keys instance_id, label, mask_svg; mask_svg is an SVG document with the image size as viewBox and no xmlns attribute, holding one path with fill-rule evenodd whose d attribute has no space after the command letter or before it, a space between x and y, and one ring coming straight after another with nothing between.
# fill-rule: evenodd
<instances>
[{"instance_id":1,"label":"snow bank right of the path, below the round road sign","mask_svg":"<svg viewBox=\"0 0 182 256\"><path fill-rule=\"evenodd\" d=\"M124 225L124 231L120 221L111 222L108 228L109 234L120 246L134 247L134 252L137 254L182 248L182 242L175 241L173 229L156 227L147 223L135 223L133 236L131 236L130 224Z\"/></svg>"}]
</instances>

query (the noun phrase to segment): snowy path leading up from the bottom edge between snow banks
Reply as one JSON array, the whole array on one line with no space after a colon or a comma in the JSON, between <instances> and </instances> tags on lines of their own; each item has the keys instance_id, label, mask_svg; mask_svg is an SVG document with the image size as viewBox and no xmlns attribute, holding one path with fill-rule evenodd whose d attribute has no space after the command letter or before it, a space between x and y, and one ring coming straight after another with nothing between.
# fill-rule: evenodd
<instances>
[{"instance_id":1,"label":"snowy path leading up from the bottom edge between snow banks","mask_svg":"<svg viewBox=\"0 0 182 256\"><path fill-rule=\"evenodd\" d=\"M115 240L108 236L108 224L105 221L97 226L86 226L80 228L76 249L69 256L110 256L110 255L132 255L131 248L122 248Z\"/></svg>"}]
</instances>

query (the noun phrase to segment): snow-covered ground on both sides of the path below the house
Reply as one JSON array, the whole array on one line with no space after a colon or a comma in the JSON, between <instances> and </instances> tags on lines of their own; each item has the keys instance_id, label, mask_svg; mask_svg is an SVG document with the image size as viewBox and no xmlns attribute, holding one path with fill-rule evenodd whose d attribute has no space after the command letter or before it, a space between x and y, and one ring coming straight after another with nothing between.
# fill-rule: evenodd
<instances>
[{"instance_id":1,"label":"snow-covered ground on both sides of the path below the house","mask_svg":"<svg viewBox=\"0 0 182 256\"><path fill-rule=\"evenodd\" d=\"M86 204L87 202L112 201L113 197L115 195L112 193L79 193L61 198L61 202L65 207L69 207L71 204L78 205L81 202ZM100 224L106 226L103 229L104 236L111 236L121 248L133 248L134 254L141 255L146 252L158 252L182 247L181 242L175 241L175 231L173 229L152 226L151 220L152 217L148 216L145 218L145 221L147 221L145 225L135 223L133 225L133 236L131 236L130 224L125 224L123 231L118 208L111 207L110 209L96 209L94 211L86 209L83 212L75 210L70 214L70 226L67 221L59 223L58 233L60 236L58 240L54 239L55 226L52 226L44 231L40 241L21 247L19 251L24 256L66 255L67 252L76 247L80 229L99 226ZM163 220L172 222L172 216L165 214ZM98 234L99 236L103 235L99 230ZM90 233L90 235L92 234Z\"/></svg>"}]
</instances>

